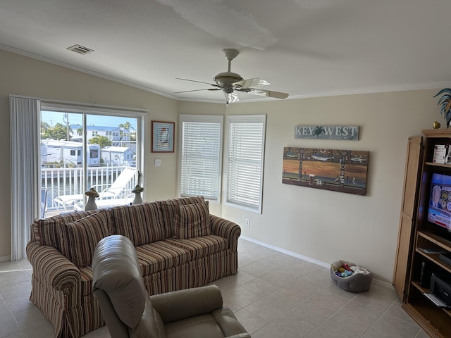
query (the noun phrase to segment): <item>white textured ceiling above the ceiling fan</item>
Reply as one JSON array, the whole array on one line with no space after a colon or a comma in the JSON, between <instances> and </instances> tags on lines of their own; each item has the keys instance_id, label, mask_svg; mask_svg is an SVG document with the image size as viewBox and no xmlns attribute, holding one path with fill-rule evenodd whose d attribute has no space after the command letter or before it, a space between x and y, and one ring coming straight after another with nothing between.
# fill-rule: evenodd
<instances>
[{"instance_id":1,"label":"white textured ceiling above the ceiling fan","mask_svg":"<svg viewBox=\"0 0 451 338\"><path fill-rule=\"evenodd\" d=\"M290 98L450 85L450 0L5 0L0 49L175 99L227 70ZM68 51L80 44L86 55ZM261 96L240 94L240 101Z\"/></svg>"}]
</instances>

